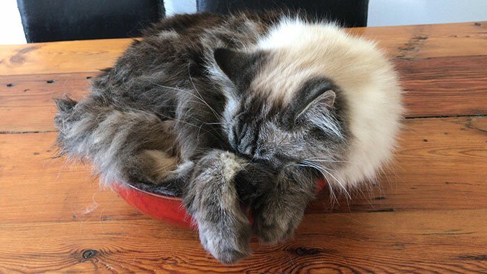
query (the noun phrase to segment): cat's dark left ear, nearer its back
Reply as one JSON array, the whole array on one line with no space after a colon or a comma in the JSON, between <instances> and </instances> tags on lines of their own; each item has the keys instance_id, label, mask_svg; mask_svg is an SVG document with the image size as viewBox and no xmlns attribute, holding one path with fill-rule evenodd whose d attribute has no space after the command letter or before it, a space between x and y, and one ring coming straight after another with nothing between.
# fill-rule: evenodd
<instances>
[{"instance_id":1,"label":"cat's dark left ear, nearer its back","mask_svg":"<svg viewBox=\"0 0 487 274\"><path fill-rule=\"evenodd\" d=\"M216 64L234 83L241 81L245 76L248 66L253 62L253 56L232 49L216 49L214 51Z\"/></svg>"}]
</instances>

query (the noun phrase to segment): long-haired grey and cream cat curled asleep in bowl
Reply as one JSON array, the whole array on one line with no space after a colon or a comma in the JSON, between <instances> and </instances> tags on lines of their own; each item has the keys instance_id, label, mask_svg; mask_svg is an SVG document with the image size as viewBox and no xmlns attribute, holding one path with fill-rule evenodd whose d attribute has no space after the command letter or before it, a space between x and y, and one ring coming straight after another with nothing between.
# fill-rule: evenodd
<instances>
[{"instance_id":1,"label":"long-haired grey and cream cat curled asleep in bowl","mask_svg":"<svg viewBox=\"0 0 487 274\"><path fill-rule=\"evenodd\" d=\"M134 40L80 102L57 99L61 154L106 184L181 195L211 255L233 263L292 236L326 179L374 179L404 113L374 42L268 12L175 15ZM241 204L248 205L253 225Z\"/></svg>"}]
</instances>

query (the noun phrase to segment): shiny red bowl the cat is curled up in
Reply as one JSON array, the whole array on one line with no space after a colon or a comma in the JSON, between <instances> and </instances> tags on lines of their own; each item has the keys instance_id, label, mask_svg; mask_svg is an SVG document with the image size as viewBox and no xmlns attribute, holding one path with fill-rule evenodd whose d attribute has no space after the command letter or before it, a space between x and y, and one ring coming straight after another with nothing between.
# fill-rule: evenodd
<instances>
[{"instance_id":1,"label":"shiny red bowl the cat is curled up in","mask_svg":"<svg viewBox=\"0 0 487 274\"><path fill-rule=\"evenodd\" d=\"M325 185L325 180L318 181L316 192L319 193ZM112 184L112 188L123 200L147 216L178 227L197 227L179 197L151 193L131 185Z\"/></svg>"}]
</instances>

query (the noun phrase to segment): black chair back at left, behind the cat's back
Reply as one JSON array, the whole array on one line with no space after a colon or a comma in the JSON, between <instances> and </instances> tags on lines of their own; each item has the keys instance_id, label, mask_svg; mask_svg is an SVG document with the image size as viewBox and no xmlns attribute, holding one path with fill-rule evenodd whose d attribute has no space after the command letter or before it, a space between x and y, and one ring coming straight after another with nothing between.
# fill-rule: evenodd
<instances>
[{"instance_id":1,"label":"black chair back at left, behind the cat's back","mask_svg":"<svg viewBox=\"0 0 487 274\"><path fill-rule=\"evenodd\" d=\"M163 0L17 0L27 42L137 37Z\"/></svg>"}]
</instances>

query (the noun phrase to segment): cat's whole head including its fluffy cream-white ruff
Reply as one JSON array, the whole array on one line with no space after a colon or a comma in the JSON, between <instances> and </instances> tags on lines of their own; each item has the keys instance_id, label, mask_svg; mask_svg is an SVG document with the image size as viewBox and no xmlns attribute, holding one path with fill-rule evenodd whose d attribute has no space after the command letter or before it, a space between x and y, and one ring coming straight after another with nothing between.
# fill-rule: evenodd
<instances>
[{"instance_id":1,"label":"cat's whole head including its fluffy cream-white ruff","mask_svg":"<svg viewBox=\"0 0 487 274\"><path fill-rule=\"evenodd\" d=\"M374 179L391 159L402 92L374 42L284 18L243 51L217 49L208 67L227 98L234 150L275 167L317 166L347 186Z\"/></svg>"}]
</instances>

